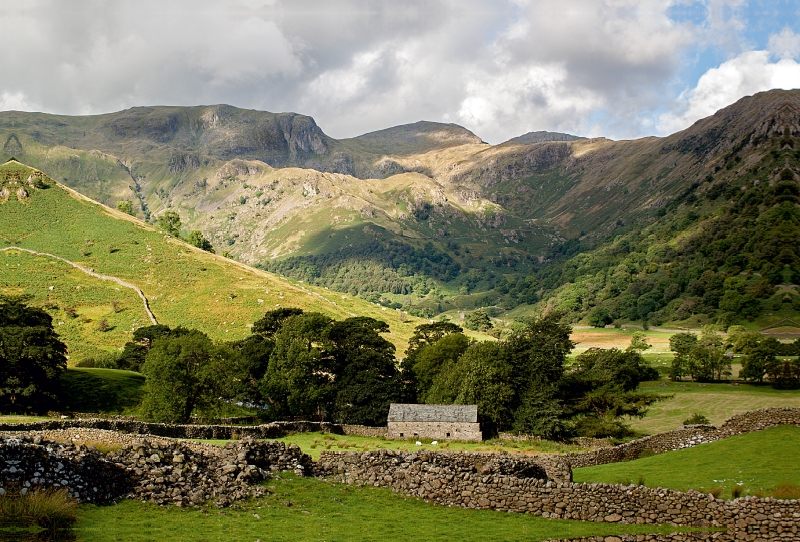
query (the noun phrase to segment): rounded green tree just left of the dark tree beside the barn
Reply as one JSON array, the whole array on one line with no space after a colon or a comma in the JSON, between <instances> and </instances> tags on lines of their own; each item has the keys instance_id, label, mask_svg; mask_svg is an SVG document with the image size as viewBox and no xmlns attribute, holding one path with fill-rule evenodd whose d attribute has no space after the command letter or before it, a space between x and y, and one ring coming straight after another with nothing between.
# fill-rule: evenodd
<instances>
[{"instance_id":1,"label":"rounded green tree just left of the dark tree beside the barn","mask_svg":"<svg viewBox=\"0 0 800 542\"><path fill-rule=\"evenodd\" d=\"M260 386L277 416L322 419L335 395L335 364L326 344L332 320L310 312L289 316L274 334L275 349Z\"/></svg>"}]
</instances>

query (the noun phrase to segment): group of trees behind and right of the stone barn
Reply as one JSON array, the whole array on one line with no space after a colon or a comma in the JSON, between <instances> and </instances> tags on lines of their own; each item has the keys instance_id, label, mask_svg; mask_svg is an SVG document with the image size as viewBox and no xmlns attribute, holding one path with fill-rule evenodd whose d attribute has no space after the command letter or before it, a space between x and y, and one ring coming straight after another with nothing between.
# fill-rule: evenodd
<instances>
[{"instance_id":1,"label":"group of trees behind and right of the stone barn","mask_svg":"<svg viewBox=\"0 0 800 542\"><path fill-rule=\"evenodd\" d=\"M496 342L472 341L450 322L423 324L409 343L403 372L410 372L421 403L477 404L490 434L512 430L561 439L628 433L622 418L642 416L658 399L636 391L639 382L658 378L641 356L641 342L626 350L590 349L568 366L575 345L560 318L532 320Z\"/></svg>"}]
</instances>

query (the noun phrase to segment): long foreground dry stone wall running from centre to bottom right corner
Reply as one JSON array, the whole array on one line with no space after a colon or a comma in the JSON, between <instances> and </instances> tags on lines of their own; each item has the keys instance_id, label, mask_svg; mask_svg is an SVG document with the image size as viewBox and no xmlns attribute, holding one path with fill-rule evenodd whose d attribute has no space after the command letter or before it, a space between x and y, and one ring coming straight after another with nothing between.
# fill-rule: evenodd
<instances>
[{"instance_id":1,"label":"long foreground dry stone wall running from centre to bottom right corner","mask_svg":"<svg viewBox=\"0 0 800 542\"><path fill-rule=\"evenodd\" d=\"M726 502L696 491L556 482L541 479L545 465L538 462L543 456L485 457L489 455L325 451L316 473L348 484L389 487L446 506L558 519L724 527L724 540L800 540L796 500L750 497ZM520 468L523 463L528 470Z\"/></svg>"}]
</instances>

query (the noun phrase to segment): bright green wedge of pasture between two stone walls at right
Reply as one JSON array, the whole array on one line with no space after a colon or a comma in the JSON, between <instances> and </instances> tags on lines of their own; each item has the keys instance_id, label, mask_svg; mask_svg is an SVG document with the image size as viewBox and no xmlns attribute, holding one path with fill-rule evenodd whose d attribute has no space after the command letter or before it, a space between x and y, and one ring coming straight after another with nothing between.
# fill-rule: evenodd
<instances>
[{"instance_id":1,"label":"bright green wedge of pasture between two stone walls at right","mask_svg":"<svg viewBox=\"0 0 800 542\"><path fill-rule=\"evenodd\" d=\"M785 425L626 463L573 471L576 482L631 483L716 492L730 498L768 495L800 498L800 427ZM721 489L718 489L721 488ZM777 496L777 495L776 495Z\"/></svg>"}]
</instances>

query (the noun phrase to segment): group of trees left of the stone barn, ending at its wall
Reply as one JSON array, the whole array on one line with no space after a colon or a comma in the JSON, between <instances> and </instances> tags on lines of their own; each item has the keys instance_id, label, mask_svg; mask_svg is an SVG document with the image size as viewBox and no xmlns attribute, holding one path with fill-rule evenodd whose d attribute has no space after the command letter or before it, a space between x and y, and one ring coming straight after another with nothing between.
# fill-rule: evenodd
<instances>
[{"instance_id":1,"label":"group of trees left of the stone barn, ending at its wall","mask_svg":"<svg viewBox=\"0 0 800 542\"><path fill-rule=\"evenodd\" d=\"M185 422L226 404L272 419L335 419L380 425L407 398L384 322L342 321L301 309L270 311L236 342L214 343L185 328L150 326L125 346L120 366L147 377L142 405L155 421Z\"/></svg>"}]
</instances>

